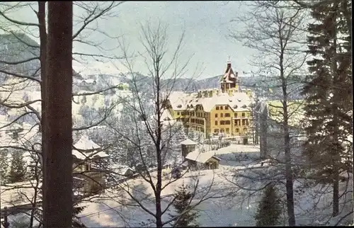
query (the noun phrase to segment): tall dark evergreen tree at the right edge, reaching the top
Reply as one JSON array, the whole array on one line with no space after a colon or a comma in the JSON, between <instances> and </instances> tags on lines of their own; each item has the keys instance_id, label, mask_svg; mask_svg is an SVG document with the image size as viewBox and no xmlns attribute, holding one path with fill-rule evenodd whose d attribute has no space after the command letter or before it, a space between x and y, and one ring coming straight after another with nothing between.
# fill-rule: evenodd
<instances>
[{"instance_id":1,"label":"tall dark evergreen tree at the right edge, reaching the top","mask_svg":"<svg viewBox=\"0 0 354 228\"><path fill-rule=\"evenodd\" d=\"M343 7L343 5L345 7ZM343 12L350 11L348 0L332 4L323 1L312 8L316 23L309 25L309 80L302 93L307 96L305 115L308 157L314 176L333 185L333 215L338 215L338 182L342 171L350 171L348 135L353 129L351 35ZM343 162L344 161L344 162Z\"/></svg>"}]
</instances>

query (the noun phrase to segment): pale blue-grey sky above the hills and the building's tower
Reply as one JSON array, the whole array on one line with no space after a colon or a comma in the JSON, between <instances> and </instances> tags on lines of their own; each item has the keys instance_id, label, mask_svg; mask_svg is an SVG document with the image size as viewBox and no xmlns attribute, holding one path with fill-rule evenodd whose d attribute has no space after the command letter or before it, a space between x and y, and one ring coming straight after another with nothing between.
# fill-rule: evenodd
<instances>
[{"instance_id":1,"label":"pale blue-grey sky above the hills and the building's tower","mask_svg":"<svg viewBox=\"0 0 354 228\"><path fill-rule=\"evenodd\" d=\"M105 3L107 4L107 3ZM36 8L36 4L33 8ZM249 59L252 50L243 47L240 42L236 42L227 35L233 30L238 30L239 26L230 21L246 11L245 6L239 1L127 1L114 9L114 16L97 21L100 31L108 33L110 37L125 39L125 44L129 45L129 51L135 53L142 52L142 45L139 41L141 24L157 23L161 21L168 25L169 42L168 50L176 48L178 38L185 30L185 40L181 52L181 63L192 56L188 64L188 72L185 77L190 77L198 67L199 79L223 74L226 62L230 57L233 68L242 72L251 71ZM74 8L74 15L82 12ZM18 20L36 21L35 14L29 7L24 7L20 11L13 12ZM96 25L96 24L95 24ZM74 26L74 30L75 30ZM121 56L122 52L118 47L117 39L107 38L102 33L87 31L91 40L101 40L102 47L111 50L105 54ZM100 54L101 51L94 47L74 43L74 52L86 52ZM167 57L170 57L167 55ZM74 69L83 74L108 73L115 74L124 72L122 63L117 60L109 62L97 62L90 59L84 64L74 64ZM147 74L142 59L135 59L134 69Z\"/></svg>"}]
</instances>

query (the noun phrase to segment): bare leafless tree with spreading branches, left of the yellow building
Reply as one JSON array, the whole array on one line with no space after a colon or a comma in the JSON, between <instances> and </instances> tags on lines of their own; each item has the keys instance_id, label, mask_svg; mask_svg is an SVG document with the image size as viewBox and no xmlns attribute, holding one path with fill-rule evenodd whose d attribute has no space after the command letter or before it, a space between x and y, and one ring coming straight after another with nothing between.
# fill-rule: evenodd
<instances>
[{"instance_id":1,"label":"bare leafless tree with spreading branches, left of the yellow building","mask_svg":"<svg viewBox=\"0 0 354 228\"><path fill-rule=\"evenodd\" d=\"M141 87L138 85L144 82L140 81L139 74L134 70L134 62L128 54L127 44L124 39L120 40L125 56L125 62L122 64L127 68L127 79L132 85L130 87L132 96L122 99L125 110L129 113L129 116L125 118L129 120L125 122L129 122L130 125L125 124L129 128L126 132L123 126L119 127L113 125L112 122L105 121L121 137L120 142L130 144L128 153L132 155L132 166L137 170L139 177L128 181L116 180L115 190L118 192L114 193L112 190L109 194L110 199L120 205L141 208L153 217L152 223L156 227L164 227L181 216L176 215L169 220L163 220L163 215L167 215L175 200L173 196L166 195L166 190L173 188L174 183L182 177L188 177L186 173L189 171L189 169L182 171L181 177L178 178L171 178L171 173L168 177L164 177L164 169L169 161L175 164L172 165L172 169L180 166L183 161L171 156L175 153L171 146L171 139L178 131L175 123L166 119L166 112L168 112L166 101L173 90L173 85L187 72L189 59L181 63L183 38L184 33L178 40L174 51L168 52L168 49L173 46L169 42L167 26L161 22L142 25L140 41L144 48L142 53L139 53L139 57L146 64L148 78L152 79L144 86L144 89L139 89ZM124 116L123 113L122 115ZM190 175L193 176L193 173ZM190 177L190 175L190 181L193 181L190 184L193 186L193 197L189 200L190 207L183 213L194 210L207 199L222 198L229 194L227 190L220 193L219 188L214 184L216 181L213 176L210 177L209 186L200 186L198 176Z\"/></svg>"}]
</instances>

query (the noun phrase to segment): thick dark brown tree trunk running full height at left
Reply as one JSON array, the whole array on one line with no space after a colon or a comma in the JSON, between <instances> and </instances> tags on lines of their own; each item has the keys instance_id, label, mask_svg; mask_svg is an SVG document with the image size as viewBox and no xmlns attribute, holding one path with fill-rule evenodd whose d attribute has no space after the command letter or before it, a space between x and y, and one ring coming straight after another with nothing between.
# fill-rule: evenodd
<instances>
[{"instance_id":1,"label":"thick dark brown tree trunk running full height at left","mask_svg":"<svg viewBox=\"0 0 354 228\"><path fill-rule=\"evenodd\" d=\"M44 227L72 227L72 1L48 2Z\"/></svg>"}]
</instances>

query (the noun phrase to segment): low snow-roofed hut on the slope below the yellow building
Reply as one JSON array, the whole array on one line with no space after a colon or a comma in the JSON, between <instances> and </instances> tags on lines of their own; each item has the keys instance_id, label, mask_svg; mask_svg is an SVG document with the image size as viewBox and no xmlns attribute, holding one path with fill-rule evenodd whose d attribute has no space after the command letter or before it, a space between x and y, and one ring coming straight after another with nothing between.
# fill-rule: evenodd
<instances>
[{"instance_id":1,"label":"low snow-roofed hut on the slope below the yellow building","mask_svg":"<svg viewBox=\"0 0 354 228\"><path fill-rule=\"evenodd\" d=\"M197 149L185 156L185 161L190 168L219 169L220 159L215 156L215 151L202 152Z\"/></svg>"}]
</instances>

